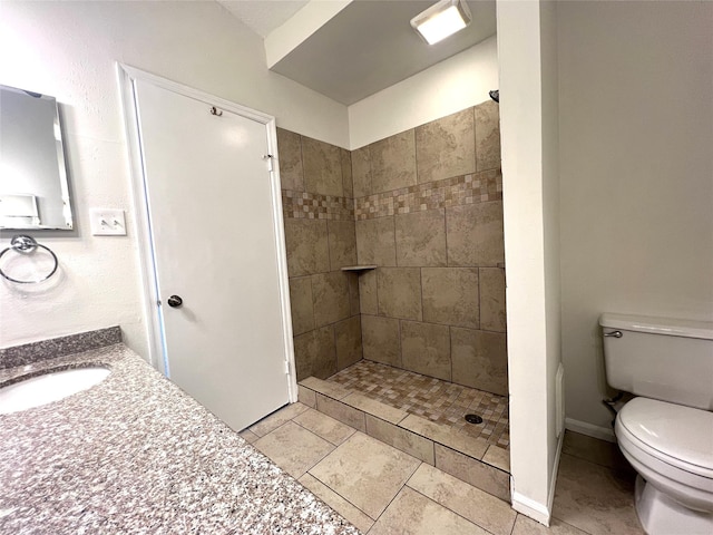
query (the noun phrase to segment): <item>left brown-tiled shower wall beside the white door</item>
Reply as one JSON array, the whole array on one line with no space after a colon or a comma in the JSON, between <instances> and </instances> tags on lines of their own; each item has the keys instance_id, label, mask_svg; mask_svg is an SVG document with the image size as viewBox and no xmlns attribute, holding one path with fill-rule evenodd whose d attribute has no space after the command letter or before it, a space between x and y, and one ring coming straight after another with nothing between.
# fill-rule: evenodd
<instances>
[{"instance_id":1,"label":"left brown-tiled shower wall beside the white door","mask_svg":"<svg viewBox=\"0 0 713 535\"><path fill-rule=\"evenodd\" d=\"M351 153L277 129L297 380L362 358Z\"/></svg>"}]
</instances>

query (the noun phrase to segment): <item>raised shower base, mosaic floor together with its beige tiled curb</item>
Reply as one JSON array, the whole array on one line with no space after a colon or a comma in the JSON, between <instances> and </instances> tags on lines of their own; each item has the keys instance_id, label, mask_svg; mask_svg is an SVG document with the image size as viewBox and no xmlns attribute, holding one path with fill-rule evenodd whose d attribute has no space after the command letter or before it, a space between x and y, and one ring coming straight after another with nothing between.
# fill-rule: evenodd
<instances>
[{"instance_id":1,"label":"raised shower base, mosaic floor together with its beige tiled curb","mask_svg":"<svg viewBox=\"0 0 713 535\"><path fill-rule=\"evenodd\" d=\"M301 402L510 500L507 397L369 360L299 386Z\"/></svg>"}]
</instances>

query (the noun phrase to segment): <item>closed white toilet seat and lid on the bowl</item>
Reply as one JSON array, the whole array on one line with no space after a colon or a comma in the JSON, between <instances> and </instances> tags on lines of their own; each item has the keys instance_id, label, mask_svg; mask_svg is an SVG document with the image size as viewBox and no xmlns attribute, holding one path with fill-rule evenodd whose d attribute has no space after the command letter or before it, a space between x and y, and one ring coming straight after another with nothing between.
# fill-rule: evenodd
<instances>
[{"instance_id":1,"label":"closed white toilet seat and lid on the bowl","mask_svg":"<svg viewBox=\"0 0 713 535\"><path fill-rule=\"evenodd\" d=\"M616 424L617 438L628 442L627 449L639 449L713 484L713 412L635 398L619 411Z\"/></svg>"}]
</instances>

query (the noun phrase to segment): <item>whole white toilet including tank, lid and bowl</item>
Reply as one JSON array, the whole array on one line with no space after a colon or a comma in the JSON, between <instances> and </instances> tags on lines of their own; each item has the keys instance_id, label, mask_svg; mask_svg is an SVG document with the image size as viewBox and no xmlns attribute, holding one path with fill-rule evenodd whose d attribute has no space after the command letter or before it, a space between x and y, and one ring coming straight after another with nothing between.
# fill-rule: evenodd
<instances>
[{"instance_id":1,"label":"whole white toilet including tank, lid and bowl","mask_svg":"<svg viewBox=\"0 0 713 535\"><path fill-rule=\"evenodd\" d=\"M637 396L615 432L638 473L644 531L713 534L713 322L605 313L599 324L607 382Z\"/></svg>"}]
</instances>

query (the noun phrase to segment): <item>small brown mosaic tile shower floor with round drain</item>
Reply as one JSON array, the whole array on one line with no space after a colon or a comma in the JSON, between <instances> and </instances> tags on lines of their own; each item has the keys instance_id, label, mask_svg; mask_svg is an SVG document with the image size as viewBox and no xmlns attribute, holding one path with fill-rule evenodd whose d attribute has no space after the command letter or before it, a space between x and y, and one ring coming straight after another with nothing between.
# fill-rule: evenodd
<instances>
[{"instance_id":1,"label":"small brown mosaic tile shower floor with round drain","mask_svg":"<svg viewBox=\"0 0 713 535\"><path fill-rule=\"evenodd\" d=\"M370 360L360 360L328 381L509 449L508 398L505 396ZM468 424L463 418L467 414L480 416L482 424Z\"/></svg>"}]
</instances>

